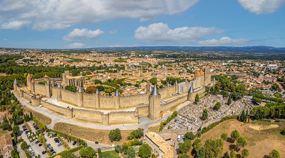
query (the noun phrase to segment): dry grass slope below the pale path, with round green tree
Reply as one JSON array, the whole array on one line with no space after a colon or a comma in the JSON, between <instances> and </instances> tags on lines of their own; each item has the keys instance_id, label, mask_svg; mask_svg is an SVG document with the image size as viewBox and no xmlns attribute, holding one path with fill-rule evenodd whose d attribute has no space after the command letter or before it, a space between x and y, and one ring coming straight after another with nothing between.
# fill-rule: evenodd
<instances>
[{"instance_id":1,"label":"dry grass slope below the pale path, with round green tree","mask_svg":"<svg viewBox=\"0 0 285 158\"><path fill-rule=\"evenodd\" d=\"M100 142L102 144L123 144L128 140L128 136L132 130L121 130L122 139L118 142L111 142L108 134L110 130L107 129L94 129L89 127L82 127L74 124L58 122L54 125L54 129L68 134L68 126L70 127L70 133L74 137L89 140L92 142ZM102 140L102 142L101 142Z\"/></svg>"}]
</instances>

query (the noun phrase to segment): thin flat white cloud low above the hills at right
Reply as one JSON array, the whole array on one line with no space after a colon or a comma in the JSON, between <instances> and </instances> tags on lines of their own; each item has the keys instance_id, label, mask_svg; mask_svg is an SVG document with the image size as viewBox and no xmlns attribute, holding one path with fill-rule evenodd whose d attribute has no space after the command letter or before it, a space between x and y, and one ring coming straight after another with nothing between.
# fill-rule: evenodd
<instances>
[{"instance_id":1,"label":"thin flat white cloud low above the hills at right","mask_svg":"<svg viewBox=\"0 0 285 158\"><path fill-rule=\"evenodd\" d=\"M240 45L250 42L250 40L247 39L232 39L229 37L223 37L220 39L211 39L206 41L200 41L198 42L199 45L203 46L224 46L224 45Z\"/></svg>"}]
</instances>

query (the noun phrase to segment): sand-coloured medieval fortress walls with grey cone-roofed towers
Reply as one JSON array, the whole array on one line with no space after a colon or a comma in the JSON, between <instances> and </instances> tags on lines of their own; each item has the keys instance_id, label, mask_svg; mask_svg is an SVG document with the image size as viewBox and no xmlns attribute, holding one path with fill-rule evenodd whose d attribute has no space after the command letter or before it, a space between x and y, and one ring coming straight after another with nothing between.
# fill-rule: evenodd
<instances>
[{"instance_id":1,"label":"sand-coloured medieval fortress walls with grey cone-roofed towers","mask_svg":"<svg viewBox=\"0 0 285 158\"><path fill-rule=\"evenodd\" d=\"M66 76L67 73L69 76L69 72L66 71L65 73ZM98 90L93 94L85 93L81 88L84 80L75 82L75 85L79 87L77 92L70 92L65 90L60 83L55 87L53 79L46 75L40 80L45 81L45 85L41 85L35 82L31 75L28 74L27 85L31 88L30 93L24 92L19 88L16 79L14 81L14 91L19 93L19 97L26 97L32 100L32 106L42 104L43 107L61 113L68 119L78 118L107 125L109 123L137 123L139 117L146 116L150 120L157 121L161 118L161 112L167 111L185 100L194 101L197 93L202 94L216 84L215 78L211 81L211 74L208 69L205 69L204 71L196 71L194 80L191 82L187 82L185 79L184 82L179 84L175 82L173 86L167 83L164 88L159 90L156 86L148 84L148 91L145 94L122 96L116 91L114 96L105 96L101 95ZM67 85L66 82L64 84ZM161 104L161 99L176 93L182 93L181 97ZM53 104L44 101L38 94L42 94L47 98L55 97L59 101L70 102L75 104L75 106L63 107L60 104ZM134 107L135 109L133 110ZM93 110L90 110L90 108ZM120 111L120 109L125 110Z\"/></svg>"}]
</instances>

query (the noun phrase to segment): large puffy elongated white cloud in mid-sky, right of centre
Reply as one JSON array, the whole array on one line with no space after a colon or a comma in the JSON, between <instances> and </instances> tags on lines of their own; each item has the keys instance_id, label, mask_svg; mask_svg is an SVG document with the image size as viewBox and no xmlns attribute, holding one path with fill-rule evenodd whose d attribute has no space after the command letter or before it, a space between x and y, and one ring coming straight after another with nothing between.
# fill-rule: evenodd
<instances>
[{"instance_id":1,"label":"large puffy elongated white cloud in mid-sky, right of centre","mask_svg":"<svg viewBox=\"0 0 285 158\"><path fill-rule=\"evenodd\" d=\"M148 27L138 27L135 31L134 37L146 42L161 42L161 41L177 41L181 43L192 43L199 40L201 37L208 36L213 33L224 33L224 30L211 27L211 28L176 28L169 29L166 23L153 23Z\"/></svg>"}]
</instances>

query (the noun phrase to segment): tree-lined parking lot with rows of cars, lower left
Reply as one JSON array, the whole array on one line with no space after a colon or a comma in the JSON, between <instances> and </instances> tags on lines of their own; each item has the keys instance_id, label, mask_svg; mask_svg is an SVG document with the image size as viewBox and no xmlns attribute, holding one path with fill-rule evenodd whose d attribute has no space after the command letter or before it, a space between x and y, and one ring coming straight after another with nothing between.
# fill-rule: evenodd
<instances>
[{"instance_id":1,"label":"tree-lined parking lot with rows of cars, lower left","mask_svg":"<svg viewBox=\"0 0 285 158\"><path fill-rule=\"evenodd\" d=\"M36 133L35 128L32 126L32 124L34 123L34 121L29 121L29 122L27 122L27 123L30 125L32 132ZM25 131L23 131L23 128L22 128L23 125L25 125L25 124L20 124L20 125L19 125L19 127L20 127L20 132L19 132L19 133L21 134L21 136L18 136L17 139L20 139L20 137L21 137L24 141L27 142L28 148L31 147L31 149L32 149L33 152L34 152L34 155L33 155L33 156L39 154L39 155L40 155L41 157L43 157L43 158L49 157L49 155L47 155L47 153L42 154L42 151L45 151L45 149L44 149L43 145L42 145L42 146L39 146L39 144L41 144L41 143L36 144L35 141L33 141L33 142L30 142L30 141L29 141L27 135L25 134ZM32 133L32 132L31 132L31 133ZM65 148L64 148L63 145L57 146L57 144L56 144L55 141L54 141L55 137L54 137L54 138L49 138L49 137L47 137L47 133L46 133L45 131L44 131L43 135L44 135L45 139L47 140L47 141L46 141L46 144L51 144L51 146L53 147L53 149L54 149L54 151L55 151L56 153L59 153L59 152L62 152L62 151L65 150ZM73 143L73 142L72 142L72 143ZM72 143L71 143L71 144L69 143L70 145L68 144L70 148L73 148L73 147L76 147L76 146L77 146L77 145L76 145L76 146L73 146ZM21 149L20 144L17 145L17 148L18 148L18 151L19 151L19 156L20 156L20 157L26 157L25 151L23 151L23 150Z\"/></svg>"}]
</instances>

